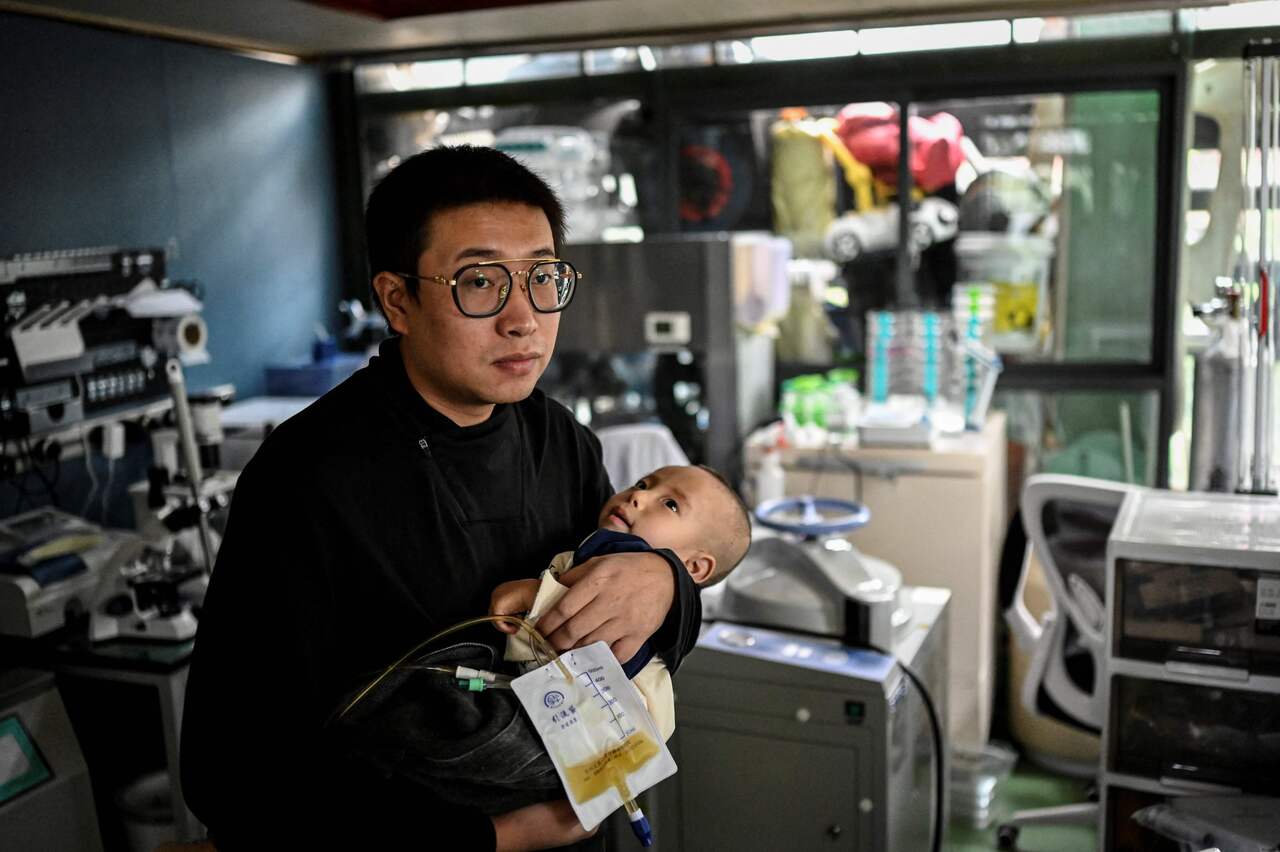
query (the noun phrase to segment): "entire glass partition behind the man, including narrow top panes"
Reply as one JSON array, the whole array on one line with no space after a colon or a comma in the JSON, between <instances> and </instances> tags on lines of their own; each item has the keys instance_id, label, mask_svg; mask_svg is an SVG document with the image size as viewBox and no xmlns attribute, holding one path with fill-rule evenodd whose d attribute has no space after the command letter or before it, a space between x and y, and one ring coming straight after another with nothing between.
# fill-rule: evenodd
<instances>
[{"instance_id":1,"label":"entire glass partition behind the man, including narrow top panes","mask_svg":"<svg viewBox=\"0 0 1280 852\"><path fill-rule=\"evenodd\" d=\"M984 92L1000 55L1057 61L1061 52L1020 45L1180 38L1179 20L1166 12L1018 18L361 65L364 188L424 148L493 145L559 189L570 242L672 232L786 237L790 312L769 319L780 376L863 370L868 316L928 312L955 336L998 353L1009 385L1055 388L997 398L1010 414L1012 484L1038 469L1155 484L1167 462L1157 449L1167 353L1156 352L1165 338L1155 320L1157 307L1161 315L1169 307L1157 302L1165 298L1157 270L1167 260L1157 234L1167 225L1156 202L1171 173L1161 150L1171 73L1098 83L1106 91L1084 91L1092 78L1070 72L1061 83L1036 83L1061 91L906 105L873 99L910 97L919 86ZM966 50L954 65L947 54L916 54L920 65L901 79L858 75L860 68L881 74L893 60L831 61L931 49ZM781 63L777 82L764 82L767 68L733 68L765 63ZM707 75L641 77L713 65L721 68ZM945 73L924 78L920 69L934 65ZM849 97L840 100L846 67ZM609 74L620 77L590 79ZM500 86L534 79L548 82ZM797 84L804 79L813 87ZM884 81L883 93L868 90L870 79ZM410 109L415 101L399 95L447 86L448 95L416 102L449 106ZM905 201L900 109L910 111ZM1196 203L1187 219L1206 256L1220 248L1217 232L1230 217L1208 200L1215 187L1239 183L1224 154L1235 124L1208 119L1196 127L1188 161ZM1112 375L1116 365L1140 368ZM1057 390L1093 380L1126 390Z\"/></svg>"}]
</instances>

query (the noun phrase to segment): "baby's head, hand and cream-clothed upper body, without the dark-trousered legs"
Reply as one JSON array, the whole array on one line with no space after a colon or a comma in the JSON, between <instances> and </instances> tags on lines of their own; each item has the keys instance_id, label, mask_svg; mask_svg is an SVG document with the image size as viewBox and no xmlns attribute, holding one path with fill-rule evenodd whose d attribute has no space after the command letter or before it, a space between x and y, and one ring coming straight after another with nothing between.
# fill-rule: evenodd
<instances>
[{"instance_id":1,"label":"baby's head, hand and cream-clothed upper body, without the dark-trousered legs","mask_svg":"<svg viewBox=\"0 0 1280 852\"><path fill-rule=\"evenodd\" d=\"M599 528L579 545L557 555L540 580L515 580L498 586L489 601L495 615L525 615L536 626L548 609L576 582L577 567L591 556L620 551L667 549L676 554L700 588L724 580L746 555L751 522L746 507L719 473L708 467L663 467L600 509ZM527 637L513 626L498 629L507 640L507 660L531 663ZM648 643L623 668L644 696L663 738L676 725L671 674Z\"/></svg>"}]
</instances>

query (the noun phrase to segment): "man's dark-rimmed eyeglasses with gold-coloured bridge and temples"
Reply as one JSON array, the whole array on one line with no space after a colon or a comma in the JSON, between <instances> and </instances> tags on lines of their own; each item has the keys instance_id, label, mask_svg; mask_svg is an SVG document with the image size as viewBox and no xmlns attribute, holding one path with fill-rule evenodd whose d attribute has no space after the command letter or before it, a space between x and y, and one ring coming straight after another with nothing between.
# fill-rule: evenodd
<instances>
[{"instance_id":1,"label":"man's dark-rimmed eyeglasses with gold-coloured bridge and temples","mask_svg":"<svg viewBox=\"0 0 1280 852\"><path fill-rule=\"evenodd\" d=\"M534 261L527 270L512 272L507 264L522 264ZM453 274L453 278L443 275L410 275L408 272L396 272L401 278L412 278L419 281L435 281L448 284L453 290L453 303L458 306L463 316L484 319L494 316L507 306L507 297L517 275L525 276L525 290L529 292L529 301L539 313L557 313L568 307L573 298L573 288L582 274L573 269L568 261L558 257L508 257L506 260L484 261L483 264L468 264Z\"/></svg>"}]
</instances>

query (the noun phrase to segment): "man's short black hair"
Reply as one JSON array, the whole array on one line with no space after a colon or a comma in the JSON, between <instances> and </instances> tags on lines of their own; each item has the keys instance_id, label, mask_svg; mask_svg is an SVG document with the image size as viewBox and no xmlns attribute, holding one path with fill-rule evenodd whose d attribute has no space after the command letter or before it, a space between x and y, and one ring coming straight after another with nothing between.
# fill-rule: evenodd
<instances>
[{"instance_id":1,"label":"man's short black hair","mask_svg":"<svg viewBox=\"0 0 1280 852\"><path fill-rule=\"evenodd\" d=\"M559 251L564 242L564 209L545 180L497 148L439 147L401 162L369 194L365 246L370 275L416 272L417 258L430 239L431 217L444 210L486 202L538 207L547 214ZM440 274L451 275L453 270ZM417 296L417 284L404 279L410 296Z\"/></svg>"}]
</instances>

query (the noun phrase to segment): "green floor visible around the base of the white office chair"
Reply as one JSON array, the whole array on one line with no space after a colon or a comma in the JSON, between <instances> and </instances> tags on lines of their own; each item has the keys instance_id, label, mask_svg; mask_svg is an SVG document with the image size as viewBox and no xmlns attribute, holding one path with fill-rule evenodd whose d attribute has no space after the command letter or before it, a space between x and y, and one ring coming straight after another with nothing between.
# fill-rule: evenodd
<instances>
[{"instance_id":1,"label":"green floor visible around the base of the white office chair","mask_svg":"<svg viewBox=\"0 0 1280 852\"><path fill-rule=\"evenodd\" d=\"M943 848L948 852L995 849L996 823L1001 816L1028 807L1083 802L1084 798L1084 782L1052 775L1020 760L1014 774L1000 788L996 820L983 830L954 820L950 840ZM1018 835L1018 848L1023 852L1092 852L1097 848L1097 832L1092 825L1028 826Z\"/></svg>"}]
</instances>

